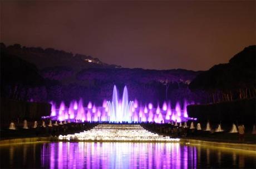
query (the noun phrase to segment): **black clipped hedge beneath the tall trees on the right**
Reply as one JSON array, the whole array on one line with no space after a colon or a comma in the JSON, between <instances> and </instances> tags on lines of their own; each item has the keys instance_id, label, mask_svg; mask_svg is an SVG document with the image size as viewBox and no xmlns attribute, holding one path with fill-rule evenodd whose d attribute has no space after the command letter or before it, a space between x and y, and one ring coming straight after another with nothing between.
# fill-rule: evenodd
<instances>
[{"instance_id":1,"label":"black clipped hedge beneath the tall trees on the right","mask_svg":"<svg viewBox=\"0 0 256 169\"><path fill-rule=\"evenodd\" d=\"M215 124L255 124L255 98L215 103L210 105L189 105L191 117L198 122L210 121Z\"/></svg>"}]
</instances>

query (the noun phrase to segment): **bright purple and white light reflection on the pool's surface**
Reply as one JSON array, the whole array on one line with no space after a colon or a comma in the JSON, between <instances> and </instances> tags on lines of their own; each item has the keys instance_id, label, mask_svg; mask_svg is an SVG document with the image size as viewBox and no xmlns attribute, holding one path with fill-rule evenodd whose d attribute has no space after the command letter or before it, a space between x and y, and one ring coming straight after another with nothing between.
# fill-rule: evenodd
<instances>
[{"instance_id":1,"label":"bright purple and white light reflection on the pool's surface","mask_svg":"<svg viewBox=\"0 0 256 169\"><path fill-rule=\"evenodd\" d=\"M59 169L188 169L196 168L198 161L195 147L181 146L178 143L58 142L49 144L45 153L49 153L50 157L41 155L41 159L45 161L43 167L46 167L48 162L49 168Z\"/></svg>"}]
</instances>

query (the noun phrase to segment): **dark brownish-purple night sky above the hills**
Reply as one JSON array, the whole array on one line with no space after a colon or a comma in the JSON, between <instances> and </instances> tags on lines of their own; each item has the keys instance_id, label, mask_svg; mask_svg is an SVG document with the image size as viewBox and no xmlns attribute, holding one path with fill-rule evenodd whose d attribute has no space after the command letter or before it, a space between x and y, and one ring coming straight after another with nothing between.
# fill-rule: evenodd
<instances>
[{"instance_id":1,"label":"dark brownish-purple night sky above the hills","mask_svg":"<svg viewBox=\"0 0 256 169\"><path fill-rule=\"evenodd\" d=\"M1 1L1 42L206 70L255 44L255 1Z\"/></svg>"}]
</instances>

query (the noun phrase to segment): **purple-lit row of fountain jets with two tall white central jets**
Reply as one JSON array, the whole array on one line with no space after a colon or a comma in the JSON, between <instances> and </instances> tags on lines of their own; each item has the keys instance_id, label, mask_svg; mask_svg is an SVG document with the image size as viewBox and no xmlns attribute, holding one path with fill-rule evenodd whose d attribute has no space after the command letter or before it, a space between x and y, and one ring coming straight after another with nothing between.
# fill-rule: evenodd
<instances>
[{"instance_id":1,"label":"purple-lit row of fountain jets with two tall white central jets","mask_svg":"<svg viewBox=\"0 0 256 169\"><path fill-rule=\"evenodd\" d=\"M112 101L104 100L102 106L95 106L90 101L87 106L83 105L82 99L77 103L71 101L69 107L66 107L62 101L57 108L56 104L51 102L51 119L53 120L81 120L81 121L111 121L111 122L156 122L165 123L169 121L188 121L196 120L188 116L186 106L189 105L184 101L184 108L181 109L179 102L176 103L175 109L171 108L170 103L163 103L160 108L152 103L139 105L137 100L129 101L128 91L125 86L122 99L119 99L116 86L114 86Z\"/></svg>"}]
</instances>

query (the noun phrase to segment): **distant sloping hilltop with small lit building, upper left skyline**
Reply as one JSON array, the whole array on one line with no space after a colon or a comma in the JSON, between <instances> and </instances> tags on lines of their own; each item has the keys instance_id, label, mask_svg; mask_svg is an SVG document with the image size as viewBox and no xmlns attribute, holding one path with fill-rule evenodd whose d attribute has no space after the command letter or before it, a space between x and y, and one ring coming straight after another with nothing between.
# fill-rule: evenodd
<instances>
[{"instance_id":1,"label":"distant sloping hilltop with small lit building, upper left skyline","mask_svg":"<svg viewBox=\"0 0 256 169\"><path fill-rule=\"evenodd\" d=\"M5 46L2 50L8 54L18 55L37 66L38 69L55 66L67 66L74 70L85 68L119 68L118 65L109 65L90 55L73 54L53 48L22 47L20 44Z\"/></svg>"}]
</instances>

